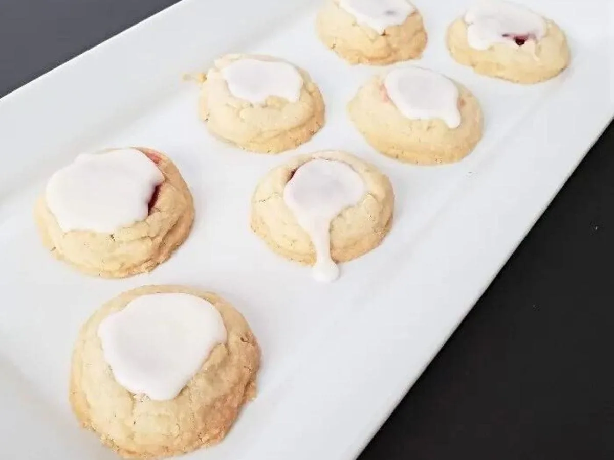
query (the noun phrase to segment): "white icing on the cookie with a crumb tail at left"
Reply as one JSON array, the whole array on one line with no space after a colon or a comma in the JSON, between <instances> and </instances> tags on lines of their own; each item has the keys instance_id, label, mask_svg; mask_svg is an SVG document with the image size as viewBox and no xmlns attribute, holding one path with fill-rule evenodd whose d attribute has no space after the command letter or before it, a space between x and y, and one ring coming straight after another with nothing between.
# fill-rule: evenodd
<instances>
[{"instance_id":1,"label":"white icing on the cookie with a crumb tail at left","mask_svg":"<svg viewBox=\"0 0 614 460\"><path fill-rule=\"evenodd\" d=\"M238 59L223 67L222 77L233 96L252 104L264 104L269 96L297 102L304 83L292 64L251 58Z\"/></svg>"}]
</instances>

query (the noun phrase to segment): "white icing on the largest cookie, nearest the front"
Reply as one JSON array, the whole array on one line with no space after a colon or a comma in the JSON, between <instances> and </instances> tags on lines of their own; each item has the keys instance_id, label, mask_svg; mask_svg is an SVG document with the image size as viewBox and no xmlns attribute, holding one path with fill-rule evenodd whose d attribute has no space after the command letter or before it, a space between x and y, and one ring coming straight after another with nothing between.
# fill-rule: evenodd
<instances>
[{"instance_id":1,"label":"white icing on the largest cookie, nearest the front","mask_svg":"<svg viewBox=\"0 0 614 460\"><path fill-rule=\"evenodd\" d=\"M181 293L137 297L98 326L115 380L155 401L179 394L227 332L216 307Z\"/></svg>"}]
</instances>

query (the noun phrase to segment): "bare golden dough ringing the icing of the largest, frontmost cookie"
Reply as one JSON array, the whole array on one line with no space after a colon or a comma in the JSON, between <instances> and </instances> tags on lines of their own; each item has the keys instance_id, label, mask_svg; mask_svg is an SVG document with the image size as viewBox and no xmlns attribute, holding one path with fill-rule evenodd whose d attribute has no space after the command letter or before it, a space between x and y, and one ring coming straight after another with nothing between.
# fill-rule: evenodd
<instances>
[{"instance_id":1,"label":"bare golden dough ringing the icing of the largest, frontmost cookie","mask_svg":"<svg viewBox=\"0 0 614 460\"><path fill-rule=\"evenodd\" d=\"M177 293L204 299L217 309L226 340L212 348L173 399L131 393L107 364L100 325L150 294ZM123 458L162 458L222 440L243 404L255 396L259 366L260 349L249 325L216 294L184 286L143 286L104 304L82 327L72 355L69 399L80 423Z\"/></svg>"}]
</instances>

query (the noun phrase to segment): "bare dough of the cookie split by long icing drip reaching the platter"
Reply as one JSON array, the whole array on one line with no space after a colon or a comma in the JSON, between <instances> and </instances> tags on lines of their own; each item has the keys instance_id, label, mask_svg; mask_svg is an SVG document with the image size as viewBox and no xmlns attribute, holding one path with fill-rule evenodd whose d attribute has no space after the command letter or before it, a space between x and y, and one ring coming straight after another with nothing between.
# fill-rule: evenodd
<instances>
[{"instance_id":1,"label":"bare dough of the cookie split by long icing drip reaching the platter","mask_svg":"<svg viewBox=\"0 0 614 460\"><path fill-rule=\"evenodd\" d=\"M378 247L392 225L394 191L389 179L375 166L341 151L301 155L270 171L252 197L252 230L279 255L302 264L316 262L309 234L284 201L284 188L295 171L313 159L347 164L362 178L362 199L343 209L330 223L330 256L335 262L358 258Z\"/></svg>"}]
</instances>

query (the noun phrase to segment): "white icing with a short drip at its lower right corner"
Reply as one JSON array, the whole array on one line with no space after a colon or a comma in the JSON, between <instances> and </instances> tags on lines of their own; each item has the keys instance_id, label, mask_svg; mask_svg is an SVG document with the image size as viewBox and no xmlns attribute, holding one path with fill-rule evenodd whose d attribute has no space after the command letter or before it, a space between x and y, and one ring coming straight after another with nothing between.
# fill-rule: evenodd
<instances>
[{"instance_id":1,"label":"white icing with a short drip at its lower right corner","mask_svg":"<svg viewBox=\"0 0 614 460\"><path fill-rule=\"evenodd\" d=\"M410 120L440 118L449 128L461 125L457 86L437 72L406 67L389 72L384 79L388 97Z\"/></svg>"}]
</instances>

